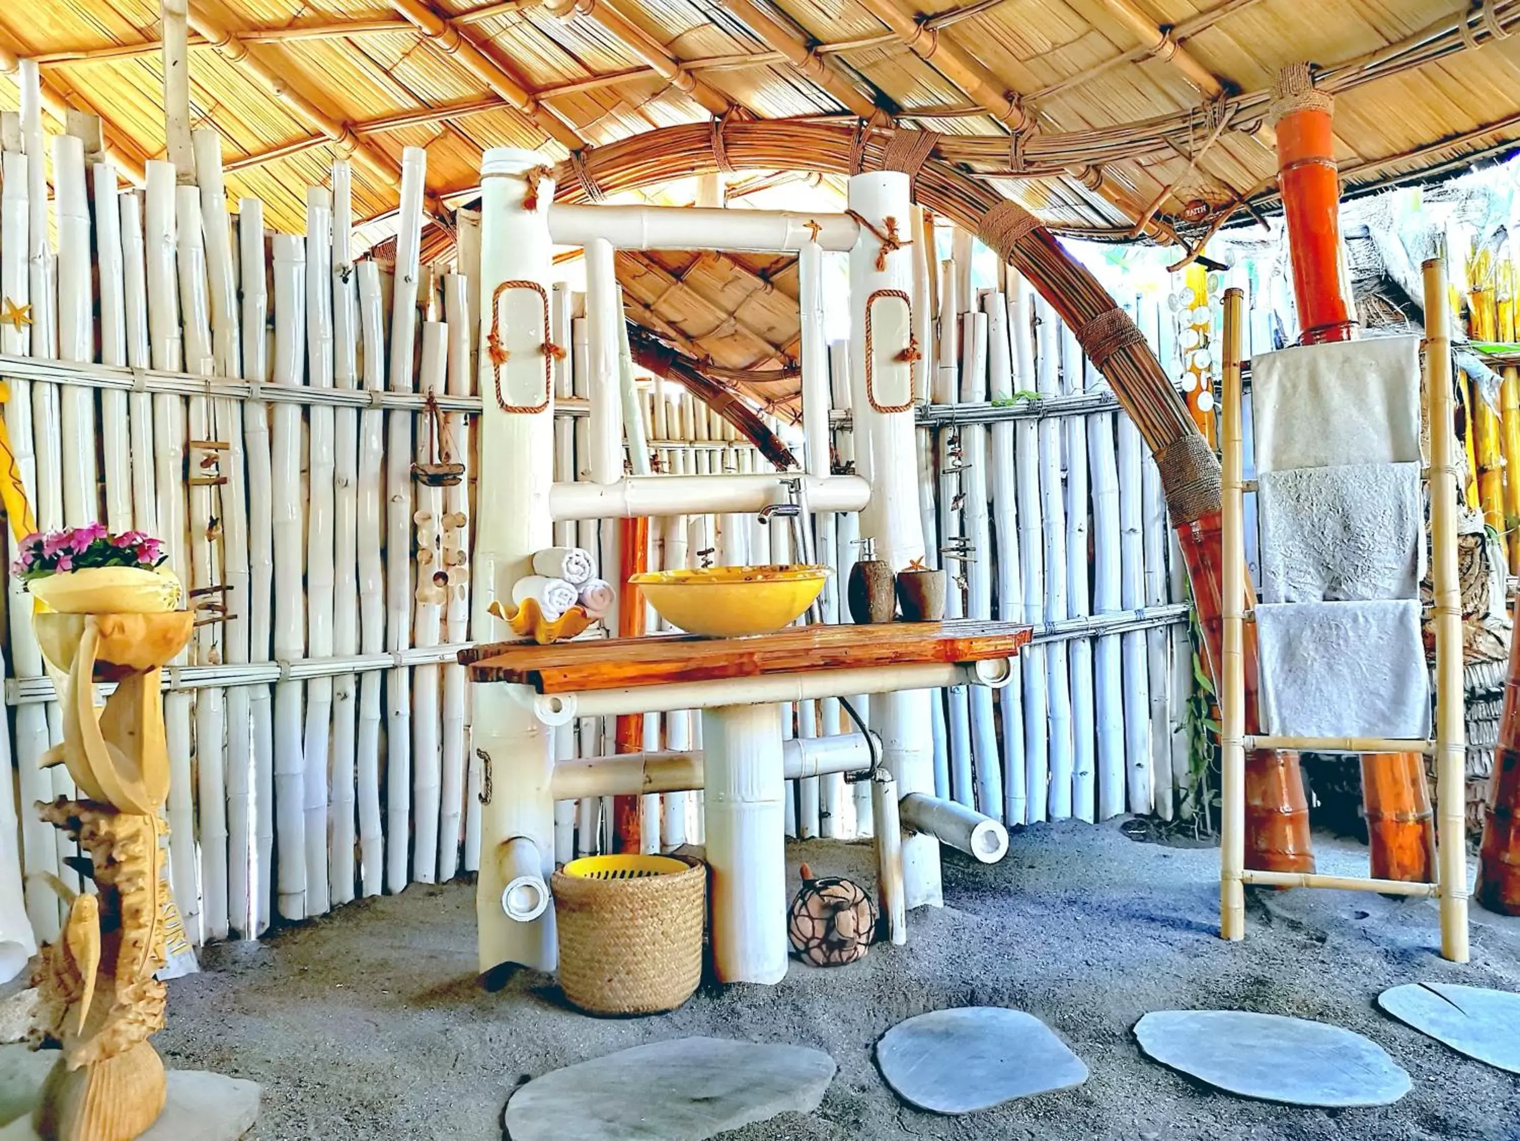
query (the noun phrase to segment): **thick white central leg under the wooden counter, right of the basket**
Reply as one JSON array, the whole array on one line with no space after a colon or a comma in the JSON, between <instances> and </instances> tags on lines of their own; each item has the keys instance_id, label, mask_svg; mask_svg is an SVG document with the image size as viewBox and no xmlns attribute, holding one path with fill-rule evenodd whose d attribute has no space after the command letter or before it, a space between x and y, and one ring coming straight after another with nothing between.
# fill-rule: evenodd
<instances>
[{"instance_id":1,"label":"thick white central leg under the wooden counter, right of the basket","mask_svg":"<svg viewBox=\"0 0 1520 1141\"><path fill-rule=\"evenodd\" d=\"M704 710L702 743L713 971L722 983L778 983L787 957L778 710Z\"/></svg>"}]
</instances>

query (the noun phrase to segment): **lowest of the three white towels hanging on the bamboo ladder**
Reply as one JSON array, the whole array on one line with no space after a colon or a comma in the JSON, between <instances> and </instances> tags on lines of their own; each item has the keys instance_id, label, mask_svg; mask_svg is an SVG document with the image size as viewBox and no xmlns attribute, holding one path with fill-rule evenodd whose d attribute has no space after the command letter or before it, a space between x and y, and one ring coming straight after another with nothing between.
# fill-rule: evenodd
<instances>
[{"instance_id":1,"label":"lowest of the three white towels hanging on the bamboo ladder","mask_svg":"<svg viewBox=\"0 0 1520 1141\"><path fill-rule=\"evenodd\" d=\"M1262 603L1256 627L1268 734L1430 735L1418 602Z\"/></svg>"}]
</instances>

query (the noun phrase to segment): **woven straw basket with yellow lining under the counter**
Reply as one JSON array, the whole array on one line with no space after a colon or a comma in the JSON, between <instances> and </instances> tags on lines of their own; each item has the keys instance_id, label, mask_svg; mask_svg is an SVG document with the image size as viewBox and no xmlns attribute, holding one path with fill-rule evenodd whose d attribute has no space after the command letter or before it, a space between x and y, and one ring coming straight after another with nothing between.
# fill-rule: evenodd
<instances>
[{"instance_id":1,"label":"woven straw basket with yellow lining under the counter","mask_svg":"<svg viewBox=\"0 0 1520 1141\"><path fill-rule=\"evenodd\" d=\"M702 980L707 868L667 855L591 855L553 875L559 986L597 1015L681 1006Z\"/></svg>"}]
</instances>

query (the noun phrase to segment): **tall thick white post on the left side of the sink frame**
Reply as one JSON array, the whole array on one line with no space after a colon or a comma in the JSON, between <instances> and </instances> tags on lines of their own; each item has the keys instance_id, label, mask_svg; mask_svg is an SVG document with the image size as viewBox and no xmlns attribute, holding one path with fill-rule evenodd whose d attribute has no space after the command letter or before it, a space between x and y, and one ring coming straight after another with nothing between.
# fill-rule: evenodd
<instances>
[{"instance_id":1,"label":"tall thick white post on the left side of the sink frame","mask_svg":"<svg viewBox=\"0 0 1520 1141\"><path fill-rule=\"evenodd\" d=\"M547 213L553 187L538 185L538 207L523 208L527 184L523 175L543 156L532 150L492 149L482 160L480 225L480 380L483 395L492 374L486 366L489 333L503 281L532 281L547 290L552 272ZM544 340L549 330L527 322L503 322L508 360L502 384L509 392L537 395L543 377ZM527 574L534 552L553 541L549 488L553 482L553 392L541 412L506 412L485 400L480 415L476 518L476 588L471 591L474 637L482 641L505 637L505 623L488 612L499 597L509 597L512 583ZM514 404L512 407L526 407ZM482 763L480 845L496 851L508 839L524 836L540 852L540 872L553 858L553 734L517 702L506 685L473 685L473 752ZM523 963L540 971L555 969L558 959L553 907L530 922L512 922L502 913L506 887L502 869L480 861L477 880L479 965L489 971L502 963Z\"/></svg>"}]
</instances>

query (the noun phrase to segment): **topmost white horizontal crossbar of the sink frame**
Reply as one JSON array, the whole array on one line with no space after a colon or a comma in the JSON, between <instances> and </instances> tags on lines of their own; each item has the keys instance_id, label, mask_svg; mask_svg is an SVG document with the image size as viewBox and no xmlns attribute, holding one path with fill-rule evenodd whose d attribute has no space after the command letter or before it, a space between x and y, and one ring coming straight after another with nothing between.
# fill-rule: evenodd
<instances>
[{"instance_id":1,"label":"topmost white horizontal crossbar of the sink frame","mask_svg":"<svg viewBox=\"0 0 1520 1141\"><path fill-rule=\"evenodd\" d=\"M907 219L903 217L903 229ZM590 246L605 240L617 249L734 249L754 254L795 254L819 226L822 249L847 251L860 225L845 214L804 214L783 210L692 207L553 207L549 232L556 246Z\"/></svg>"}]
</instances>

